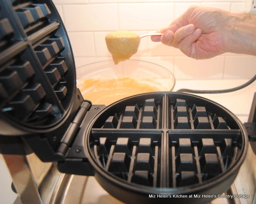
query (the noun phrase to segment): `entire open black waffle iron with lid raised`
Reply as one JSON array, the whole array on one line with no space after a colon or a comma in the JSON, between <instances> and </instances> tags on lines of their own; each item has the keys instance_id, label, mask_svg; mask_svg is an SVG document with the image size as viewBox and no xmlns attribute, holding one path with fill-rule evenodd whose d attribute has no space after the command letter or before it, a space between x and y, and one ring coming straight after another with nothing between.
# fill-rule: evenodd
<instances>
[{"instance_id":1,"label":"entire open black waffle iron with lid raised","mask_svg":"<svg viewBox=\"0 0 256 204\"><path fill-rule=\"evenodd\" d=\"M0 0L0 46L0 152L34 152L60 172L95 176L122 202L209 202L236 178L248 135L255 141L256 101L242 124L220 104L181 92L109 106L84 100L51 0Z\"/></svg>"}]
</instances>

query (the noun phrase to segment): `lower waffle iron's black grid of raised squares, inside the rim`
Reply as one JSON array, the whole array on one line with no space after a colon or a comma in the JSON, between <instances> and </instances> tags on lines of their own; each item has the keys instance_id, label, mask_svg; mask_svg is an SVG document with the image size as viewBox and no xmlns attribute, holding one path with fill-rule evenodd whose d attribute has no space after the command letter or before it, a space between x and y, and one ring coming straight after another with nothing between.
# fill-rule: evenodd
<instances>
[{"instance_id":1,"label":"lower waffle iron's black grid of raised squares, inside the rim","mask_svg":"<svg viewBox=\"0 0 256 204\"><path fill-rule=\"evenodd\" d=\"M168 95L160 103L153 98L126 106L92 135L106 171L154 188L202 184L224 173L240 151L239 129L204 106L171 103Z\"/></svg>"}]
</instances>

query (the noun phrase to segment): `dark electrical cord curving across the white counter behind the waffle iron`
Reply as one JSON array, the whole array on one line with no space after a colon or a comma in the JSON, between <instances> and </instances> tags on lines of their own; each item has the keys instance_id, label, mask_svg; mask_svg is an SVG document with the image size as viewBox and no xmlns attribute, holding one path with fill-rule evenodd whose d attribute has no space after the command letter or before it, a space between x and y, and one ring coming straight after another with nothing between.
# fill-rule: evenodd
<instances>
[{"instance_id":1,"label":"dark electrical cord curving across the white counter behind the waffle iron","mask_svg":"<svg viewBox=\"0 0 256 204\"><path fill-rule=\"evenodd\" d=\"M237 91L242 88L245 88L246 86L252 84L252 82L254 82L255 80L256 80L256 74L248 82L246 82L245 84L242 84L241 86L237 86L235 88L224 89L224 90L193 90L193 89L181 88L177 90L177 92L187 92L187 93L193 93L193 94L222 94L222 93L233 92L233 91Z\"/></svg>"}]
</instances>

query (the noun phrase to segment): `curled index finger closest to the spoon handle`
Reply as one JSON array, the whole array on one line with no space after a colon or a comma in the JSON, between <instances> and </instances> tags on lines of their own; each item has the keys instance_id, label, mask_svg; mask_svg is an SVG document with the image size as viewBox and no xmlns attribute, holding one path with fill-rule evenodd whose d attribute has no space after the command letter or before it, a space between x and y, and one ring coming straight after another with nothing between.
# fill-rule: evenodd
<instances>
[{"instance_id":1,"label":"curled index finger closest to the spoon handle","mask_svg":"<svg viewBox=\"0 0 256 204\"><path fill-rule=\"evenodd\" d=\"M193 24L188 24L179 28L175 33L172 31L166 31L161 37L160 40L163 44L178 48L178 44L187 36L192 34L195 30Z\"/></svg>"}]
</instances>

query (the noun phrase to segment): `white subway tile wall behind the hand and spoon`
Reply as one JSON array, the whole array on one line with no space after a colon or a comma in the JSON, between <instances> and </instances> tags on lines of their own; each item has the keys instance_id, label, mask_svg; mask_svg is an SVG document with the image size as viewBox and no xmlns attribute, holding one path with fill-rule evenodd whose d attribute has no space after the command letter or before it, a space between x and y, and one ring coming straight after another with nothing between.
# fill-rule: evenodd
<instances>
[{"instance_id":1,"label":"white subway tile wall behind the hand and spoon","mask_svg":"<svg viewBox=\"0 0 256 204\"><path fill-rule=\"evenodd\" d=\"M108 32L132 30L138 34L168 26L190 6L208 6L244 12L246 0L53 0L66 26L76 67L111 60L105 42ZM176 79L251 78L256 57L225 53L208 60L194 60L179 49L142 38L132 59L154 62L172 71Z\"/></svg>"}]
</instances>

